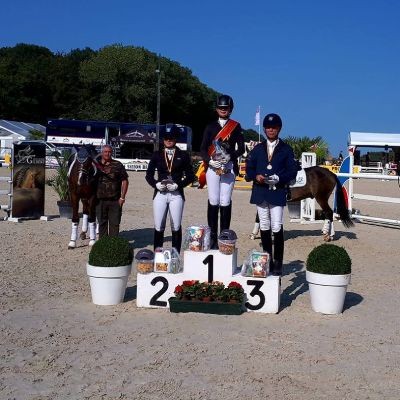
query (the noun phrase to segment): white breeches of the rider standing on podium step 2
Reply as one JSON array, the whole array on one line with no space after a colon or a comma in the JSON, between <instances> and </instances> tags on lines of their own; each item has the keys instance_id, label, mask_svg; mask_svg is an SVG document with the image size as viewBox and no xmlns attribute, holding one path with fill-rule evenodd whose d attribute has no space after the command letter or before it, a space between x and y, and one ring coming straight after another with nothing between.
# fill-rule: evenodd
<instances>
[{"instance_id":1,"label":"white breeches of the rider standing on podium step 2","mask_svg":"<svg viewBox=\"0 0 400 400\"><path fill-rule=\"evenodd\" d=\"M181 227L183 206L185 202L181 194L174 192L158 192L153 200L154 228L164 231L169 211L171 230L177 231Z\"/></svg>"}]
</instances>

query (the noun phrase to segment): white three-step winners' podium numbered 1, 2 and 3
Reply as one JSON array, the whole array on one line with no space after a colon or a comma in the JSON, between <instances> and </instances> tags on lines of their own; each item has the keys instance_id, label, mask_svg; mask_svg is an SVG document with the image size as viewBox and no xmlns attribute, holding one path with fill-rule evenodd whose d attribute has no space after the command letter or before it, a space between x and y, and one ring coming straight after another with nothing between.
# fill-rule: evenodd
<instances>
[{"instance_id":1,"label":"white three-step winners' podium numbered 1, 2 and 3","mask_svg":"<svg viewBox=\"0 0 400 400\"><path fill-rule=\"evenodd\" d=\"M218 250L184 252L183 272L179 274L137 274L137 307L168 307L168 299L184 280L220 281L225 285L235 281L243 286L246 311L277 313L280 304L280 278L246 277L238 273L237 250L232 255Z\"/></svg>"}]
</instances>

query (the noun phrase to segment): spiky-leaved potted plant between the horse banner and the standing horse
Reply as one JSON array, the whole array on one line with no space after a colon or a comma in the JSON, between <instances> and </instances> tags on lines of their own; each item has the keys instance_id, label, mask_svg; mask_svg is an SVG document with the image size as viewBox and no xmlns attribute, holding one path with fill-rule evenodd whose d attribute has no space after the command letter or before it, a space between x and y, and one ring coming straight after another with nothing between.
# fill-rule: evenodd
<instances>
[{"instance_id":1,"label":"spiky-leaved potted plant between the horse banner and the standing horse","mask_svg":"<svg viewBox=\"0 0 400 400\"><path fill-rule=\"evenodd\" d=\"M70 150L63 150L61 153L58 151L54 152L54 157L57 160L57 168L54 174L46 180L46 184L51 186L59 197L57 205L60 217L62 218L72 218L68 188L68 159L70 156Z\"/></svg>"}]
</instances>

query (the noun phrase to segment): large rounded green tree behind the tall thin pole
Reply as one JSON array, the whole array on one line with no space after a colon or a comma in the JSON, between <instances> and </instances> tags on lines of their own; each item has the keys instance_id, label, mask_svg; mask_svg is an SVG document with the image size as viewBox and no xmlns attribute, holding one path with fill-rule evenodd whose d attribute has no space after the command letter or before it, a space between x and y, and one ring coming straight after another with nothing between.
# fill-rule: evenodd
<instances>
[{"instance_id":1,"label":"large rounded green tree behind the tall thin pole","mask_svg":"<svg viewBox=\"0 0 400 400\"><path fill-rule=\"evenodd\" d=\"M79 117L156 122L159 66L160 123L192 127L193 147L198 149L205 125L214 118L217 92L202 84L189 69L143 48L107 46L81 63L85 99Z\"/></svg>"}]
</instances>

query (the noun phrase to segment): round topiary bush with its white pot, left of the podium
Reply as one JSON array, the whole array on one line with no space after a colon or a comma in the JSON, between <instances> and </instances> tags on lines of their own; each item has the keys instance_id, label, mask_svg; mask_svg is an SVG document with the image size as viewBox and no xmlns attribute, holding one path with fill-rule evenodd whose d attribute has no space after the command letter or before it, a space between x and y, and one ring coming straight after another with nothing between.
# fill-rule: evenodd
<instances>
[{"instance_id":1,"label":"round topiary bush with its white pot, left of the podium","mask_svg":"<svg viewBox=\"0 0 400 400\"><path fill-rule=\"evenodd\" d=\"M132 270L133 250L129 241L103 236L91 248L86 271L94 304L121 303Z\"/></svg>"}]
</instances>

